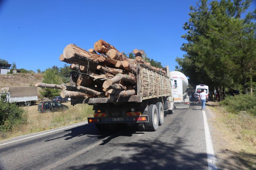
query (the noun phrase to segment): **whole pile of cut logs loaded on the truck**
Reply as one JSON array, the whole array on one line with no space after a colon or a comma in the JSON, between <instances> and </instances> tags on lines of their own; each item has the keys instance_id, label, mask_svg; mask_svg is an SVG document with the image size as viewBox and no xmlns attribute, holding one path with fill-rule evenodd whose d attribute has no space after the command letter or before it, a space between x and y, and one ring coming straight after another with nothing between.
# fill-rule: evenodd
<instances>
[{"instance_id":1,"label":"whole pile of cut logs loaded on the truck","mask_svg":"<svg viewBox=\"0 0 256 170\"><path fill-rule=\"evenodd\" d=\"M136 66L143 63L151 70L166 74L142 59L143 50L134 49L135 59L126 57L100 39L88 51L69 44L59 60L71 64L71 86L36 83L36 87L61 89L61 97L129 97L136 94Z\"/></svg>"}]
</instances>

